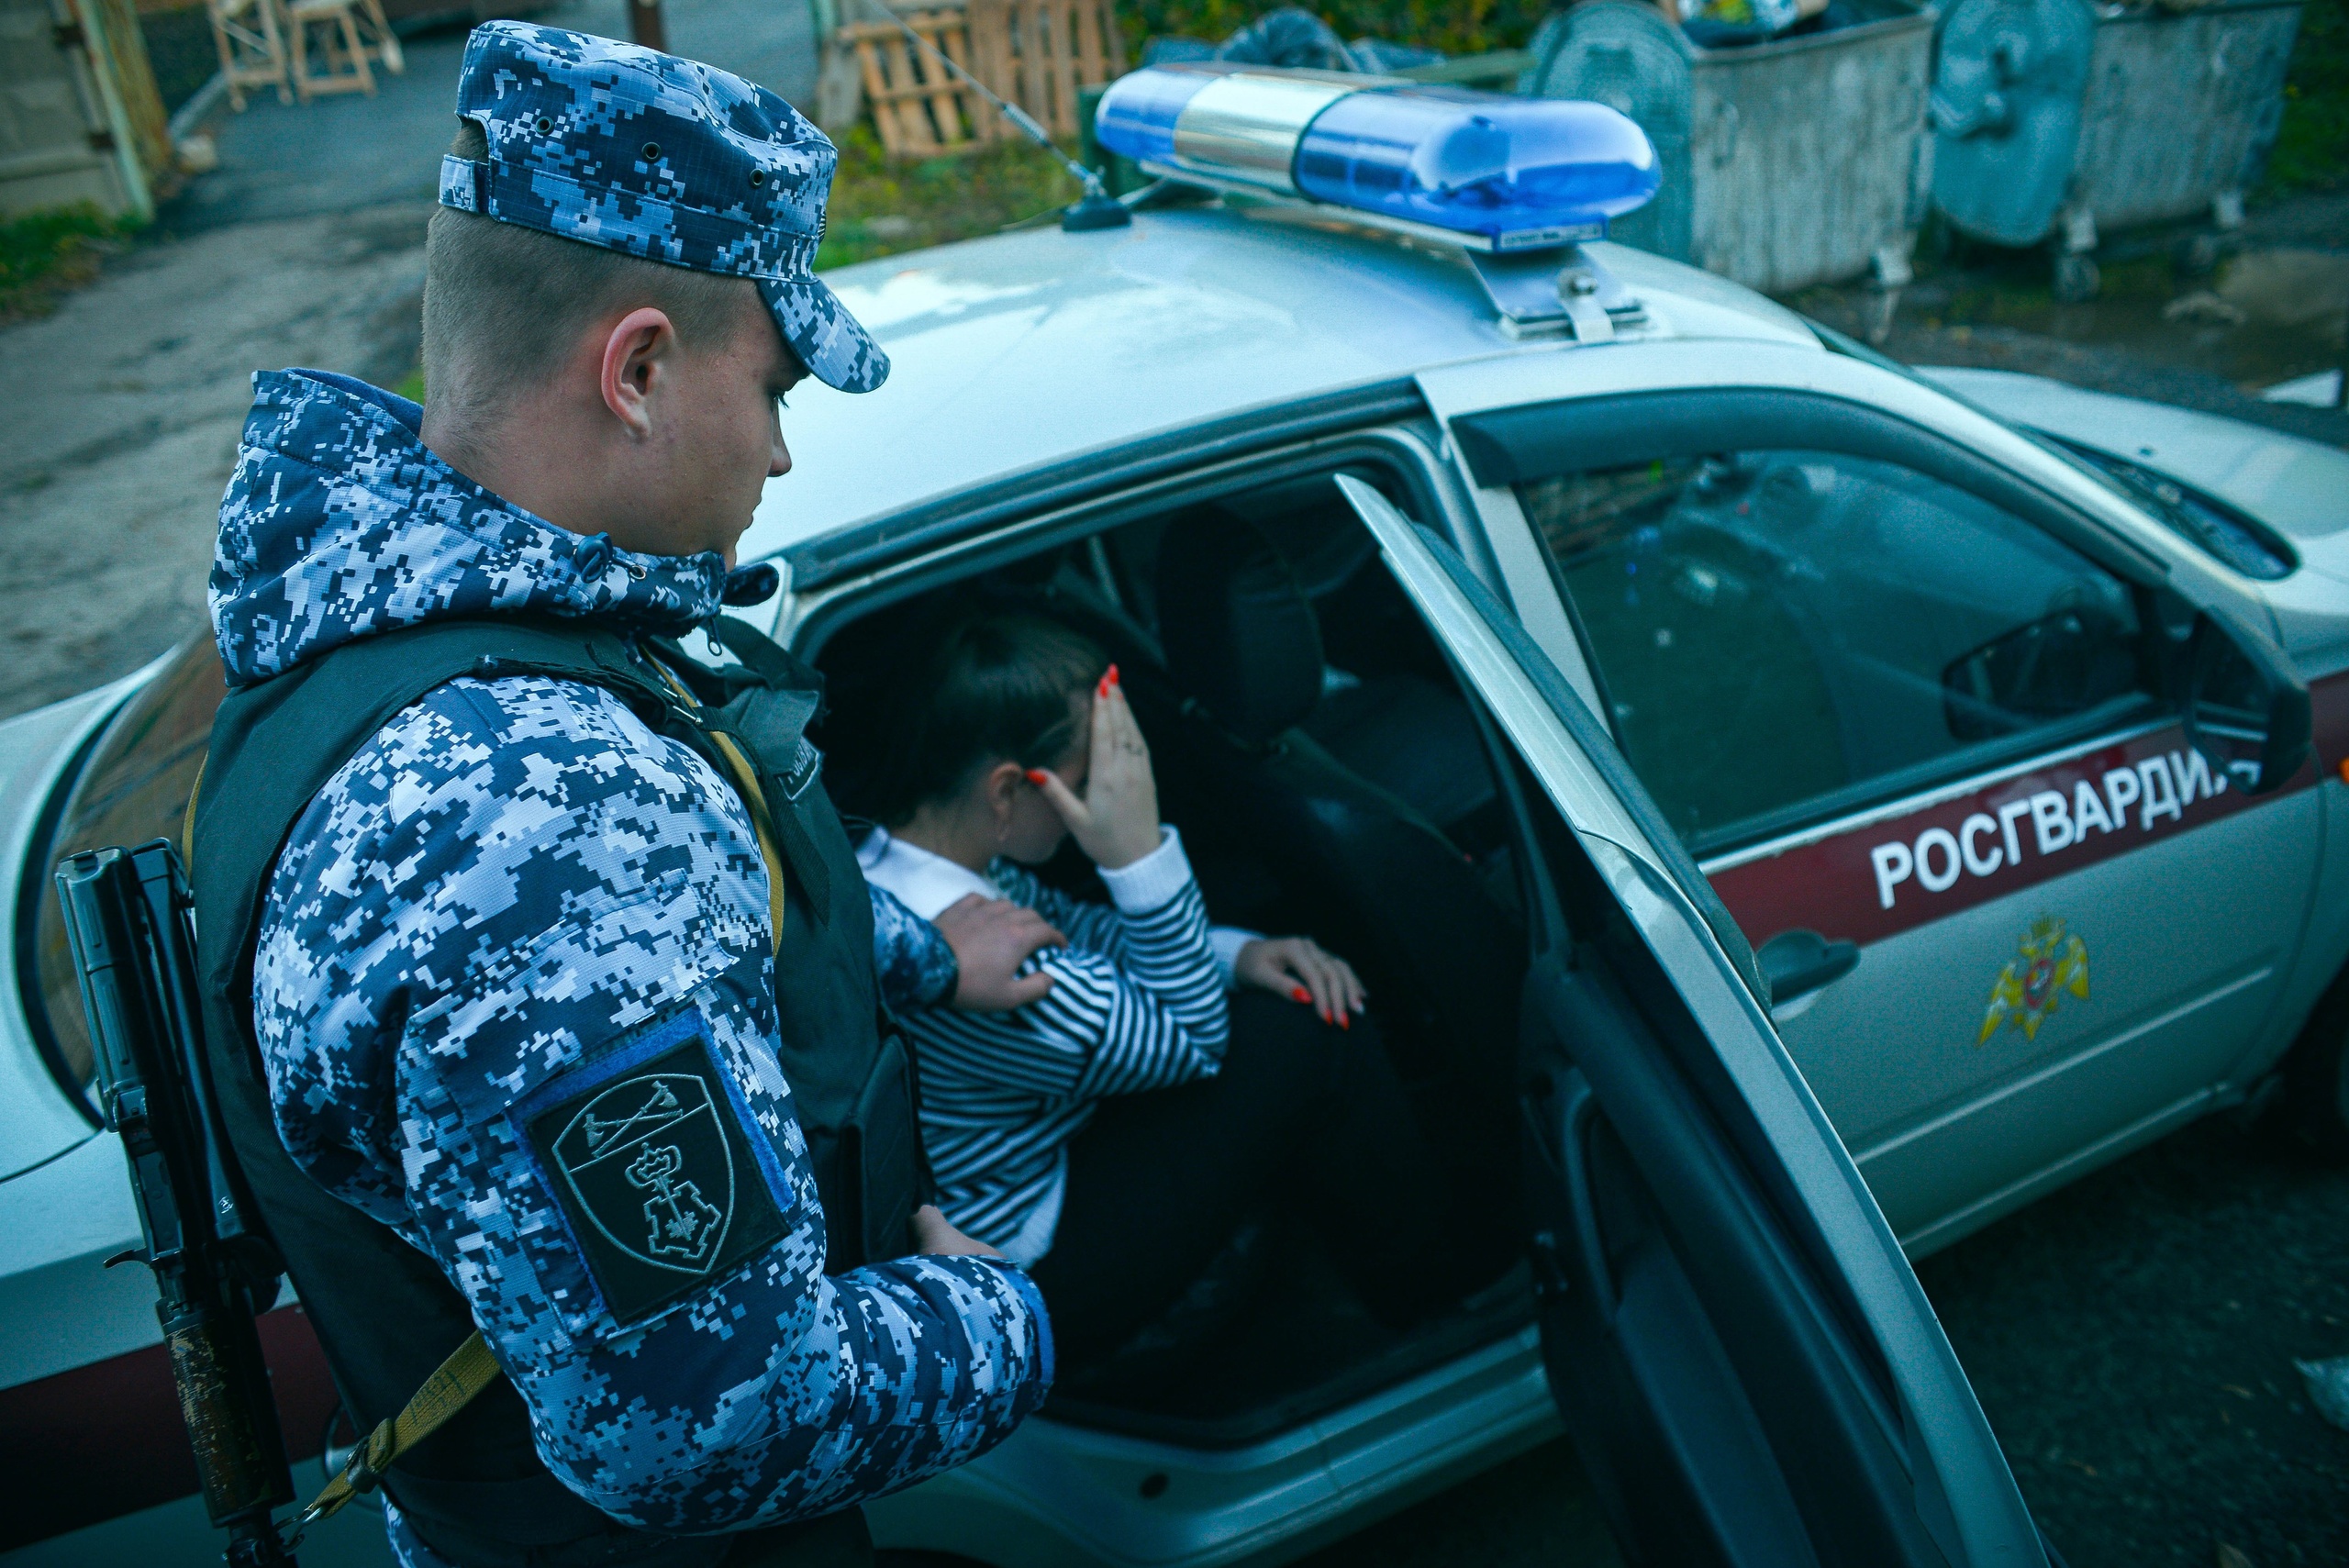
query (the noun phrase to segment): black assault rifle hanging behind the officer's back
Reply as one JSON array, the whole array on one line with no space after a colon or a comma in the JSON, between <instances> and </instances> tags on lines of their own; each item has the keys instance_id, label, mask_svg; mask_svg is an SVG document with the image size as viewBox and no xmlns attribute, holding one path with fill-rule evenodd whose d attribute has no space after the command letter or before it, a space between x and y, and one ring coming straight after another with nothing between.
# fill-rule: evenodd
<instances>
[{"instance_id":1,"label":"black assault rifle hanging behind the officer's back","mask_svg":"<svg viewBox=\"0 0 2349 1568\"><path fill-rule=\"evenodd\" d=\"M96 1047L106 1124L122 1134L143 1246L106 1261L155 1270L179 1411L204 1512L230 1568L294 1568L270 1512L294 1502L277 1401L254 1319L284 1263L249 1221L228 1155L195 984L195 908L179 850L85 850L56 869L73 967Z\"/></svg>"}]
</instances>

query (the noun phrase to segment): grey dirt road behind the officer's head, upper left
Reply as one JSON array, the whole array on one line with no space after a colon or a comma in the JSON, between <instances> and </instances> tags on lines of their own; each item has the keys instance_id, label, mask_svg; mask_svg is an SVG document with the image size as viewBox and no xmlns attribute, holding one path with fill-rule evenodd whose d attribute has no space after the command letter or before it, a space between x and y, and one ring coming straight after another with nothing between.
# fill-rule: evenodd
<instances>
[{"instance_id":1,"label":"grey dirt road behind the officer's head, upper left","mask_svg":"<svg viewBox=\"0 0 2349 1568\"><path fill-rule=\"evenodd\" d=\"M806 7L667 0L669 42L808 99ZM622 0L554 26L620 35ZM139 669L207 624L221 488L251 373L416 369L423 237L463 31L409 40L373 99L258 96L211 122L218 171L56 315L0 331L0 718Z\"/></svg>"}]
</instances>

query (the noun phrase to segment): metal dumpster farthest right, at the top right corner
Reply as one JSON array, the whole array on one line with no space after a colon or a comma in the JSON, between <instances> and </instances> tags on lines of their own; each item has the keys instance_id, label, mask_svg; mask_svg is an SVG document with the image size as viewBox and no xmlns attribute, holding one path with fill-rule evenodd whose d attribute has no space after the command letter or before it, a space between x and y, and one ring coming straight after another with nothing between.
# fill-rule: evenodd
<instances>
[{"instance_id":1,"label":"metal dumpster farthest right, at the top right corner","mask_svg":"<svg viewBox=\"0 0 2349 1568\"><path fill-rule=\"evenodd\" d=\"M1994 244L2053 235L2062 298L2095 293L2100 228L2201 214L2236 228L2276 141L2297 33L2300 0L2180 12L1950 0L1933 66L1933 207Z\"/></svg>"}]
</instances>

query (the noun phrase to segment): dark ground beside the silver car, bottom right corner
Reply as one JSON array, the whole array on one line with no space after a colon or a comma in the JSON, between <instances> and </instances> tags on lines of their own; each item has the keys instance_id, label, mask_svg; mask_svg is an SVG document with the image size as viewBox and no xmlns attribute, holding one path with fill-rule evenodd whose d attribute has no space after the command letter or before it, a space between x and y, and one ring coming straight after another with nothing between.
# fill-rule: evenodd
<instances>
[{"instance_id":1,"label":"dark ground beside the silver car, bottom right corner","mask_svg":"<svg viewBox=\"0 0 2349 1568\"><path fill-rule=\"evenodd\" d=\"M1917 1268L2072 1568L2349 1563L2349 1171L2220 1115Z\"/></svg>"}]
</instances>

